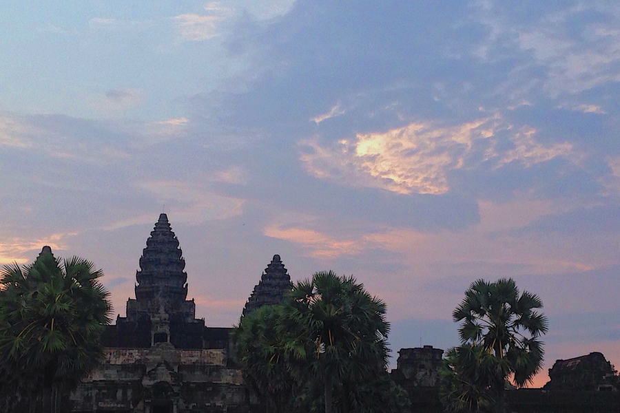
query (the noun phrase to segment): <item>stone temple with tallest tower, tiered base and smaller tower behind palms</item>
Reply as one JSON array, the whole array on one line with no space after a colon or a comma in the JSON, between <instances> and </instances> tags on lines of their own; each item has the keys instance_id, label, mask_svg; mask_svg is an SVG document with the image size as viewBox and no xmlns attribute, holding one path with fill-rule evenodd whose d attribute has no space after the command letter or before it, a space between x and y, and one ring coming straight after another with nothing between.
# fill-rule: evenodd
<instances>
[{"instance_id":1,"label":"stone temple with tallest tower, tiered base and smaller tower behind palms","mask_svg":"<svg viewBox=\"0 0 620 413\"><path fill-rule=\"evenodd\" d=\"M127 317L107 327L103 362L66 397L63 412L249 411L254 399L229 359L231 328L196 319L184 270L183 252L163 213L140 258ZM290 288L287 270L274 255L242 312L278 304Z\"/></svg>"}]
</instances>

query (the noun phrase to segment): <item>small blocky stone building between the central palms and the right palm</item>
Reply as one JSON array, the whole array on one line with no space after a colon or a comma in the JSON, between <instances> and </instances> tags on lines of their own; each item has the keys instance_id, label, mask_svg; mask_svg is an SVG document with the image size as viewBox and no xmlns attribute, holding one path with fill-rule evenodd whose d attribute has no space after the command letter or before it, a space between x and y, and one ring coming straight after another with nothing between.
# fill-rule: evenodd
<instances>
[{"instance_id":1,"label":"small blocky stone building between the central palms and the right palm","mask_svg":"<svg viewBox=\"0 0 620 413\"><path fill-rule=\"evenodd\" d=\"M435 387L439 385L443 354L444 350L433 346L401 348L391 375L394 381L406 388Z\"/></svg>"}]
</instances>

